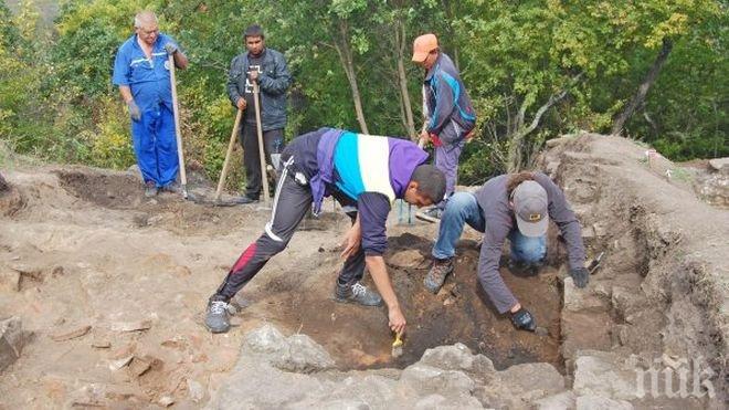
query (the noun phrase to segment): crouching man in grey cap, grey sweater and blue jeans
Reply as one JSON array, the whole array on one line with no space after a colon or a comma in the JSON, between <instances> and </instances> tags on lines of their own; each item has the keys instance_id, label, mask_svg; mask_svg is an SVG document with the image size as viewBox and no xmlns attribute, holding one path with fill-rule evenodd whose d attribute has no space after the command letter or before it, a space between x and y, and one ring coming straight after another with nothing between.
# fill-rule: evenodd
<instances>
[{"instance_id":1,"label":"crouching man in grey cap, grey sweater and blue jeans","mask_svg":"<svg viewBox=\"0 0 729 410\"><path fill-rule=\"evenodd\" d=\"M436 293L453 272L455 245L468 223L484 232L478 259L478 280L496 309L511 314L518 329L537 327L529 311L511 294L499 273L501 246L511 243L513 266L533 273L547 255L549 220L557 223L567 242L569 272L578 287L588 285L584 246L580 222L570 209L562 190L541 172L501 175L489 179L475 193L456 192L448 200L441 219L433 267L425 276L425 287Z\"/></svg>"}]
</instances>

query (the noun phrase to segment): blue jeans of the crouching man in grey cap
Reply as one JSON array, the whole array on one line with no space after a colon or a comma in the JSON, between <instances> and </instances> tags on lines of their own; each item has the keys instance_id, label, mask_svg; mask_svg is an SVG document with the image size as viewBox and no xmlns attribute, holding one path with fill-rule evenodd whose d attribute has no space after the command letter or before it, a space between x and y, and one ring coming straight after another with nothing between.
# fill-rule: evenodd
<instances>
[{"instance_id":1,"label":"blue jeans of the crouching man in grey cap","mask_svg":"<svg viewBox=\"0 0 729 410\"><path fill-rule=\"evenodd\" d=\"M447 201L441 217L437 240L433 246L433 257L447 259L455 255L455 246L463 233L463 225L478 232L486 231L486 223L480 213L476 197L471 192L455 192ZM538 264L547 255L547 236L525 236L518 229L509 232L511 260L528 264Z\"/></svg>"}]
</instances>

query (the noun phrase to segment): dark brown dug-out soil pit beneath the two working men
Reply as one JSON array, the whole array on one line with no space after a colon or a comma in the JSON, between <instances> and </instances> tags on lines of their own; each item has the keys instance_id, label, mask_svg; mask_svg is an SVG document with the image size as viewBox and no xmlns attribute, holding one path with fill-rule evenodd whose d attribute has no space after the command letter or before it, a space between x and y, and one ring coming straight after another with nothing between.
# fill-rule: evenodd
<instances>
[{"instance_id":1,"label":"dark brown dug-out soil pit beneath the two working men","mask_svg":"<svg viewBox=\"0 0 729 410\"><path fill-rule=\"evenodd\" d=\"M478 282L478 246L473 241L458 244L455 272L441 292L427 292L423 278L430 267L431 246L429 240L408 233L389 239L385 262L408 319L403 355L397 359L391 357L393 339L387 328L387 308L335 302L334 272L309 288L289 286L305 273L277 276L261 287L254 296L255 304L266 306L267 319L323 345L342 370L404 368L418 361L426 349L455 343L486 355L497 369L537 361L563 369L559 353L561 295L556 267L545 266L532 277L517 276L501 267L509 288L547 332L516 330L508 315L496 312ZM374 286L369 277L366 284Z\"/></svg>"}]
</instances>

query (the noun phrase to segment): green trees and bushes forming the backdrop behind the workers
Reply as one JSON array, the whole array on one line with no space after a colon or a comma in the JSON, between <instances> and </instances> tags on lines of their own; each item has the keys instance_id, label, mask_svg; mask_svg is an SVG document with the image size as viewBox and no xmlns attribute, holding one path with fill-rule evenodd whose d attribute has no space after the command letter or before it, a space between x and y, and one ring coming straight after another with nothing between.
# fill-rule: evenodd
<instances>
[{"instance_id":1,"label":"green trees and bushes forming the backdrop behind the workers","mask_svg":"<svg viewBox=\"0 0 729 410\"><path fill-rule=\"evenodd\" d=\"M129 119L110 74L141 9L155 10L190 57L178 74L186 155L213 179L235 114L228 67L244 51L241 33L251 23L264 27L266 45L285 53L294 75L289 139L320 126L359 128L344 49L370 132L406 135L397 76L402 28L415 127L423 73L409 57L423 32L439 35L474 101L478 125L462 156L462 183L504 171L514 136L563 90L520 143L527 162L560 134L609 132L664 40L673 51L627 135L672 159L729 155L729 13L712 0L66 0L51 28L32 0L17 15L0 0L0 139L52 160L133 164ZM240 176L240 158L234 162Z\"/></svg>"}]
</instances>

